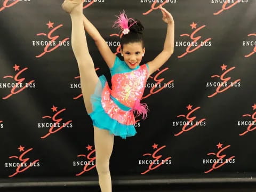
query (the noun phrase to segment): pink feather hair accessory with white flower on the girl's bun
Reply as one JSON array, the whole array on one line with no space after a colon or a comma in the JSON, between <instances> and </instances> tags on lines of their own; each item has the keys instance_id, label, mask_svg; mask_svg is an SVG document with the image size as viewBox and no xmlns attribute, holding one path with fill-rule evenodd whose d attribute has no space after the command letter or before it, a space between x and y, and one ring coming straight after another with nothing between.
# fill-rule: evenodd
<instances>
[{"instance_id":1,"label":"pink feather hair accessory with white flower on the girl's bun","mask_svg":"<svg viewBox=\"0 0 256 192\"><path fill-rule=\"evenodd\" d=\"M127 17L127 15L125 14L125 11L124 11L124 10L123 10L122 13L120 12L119 16L116 16L116 17L117 17L118 19L115 21L113 27L115 27L115 28L118 28L118 27L121 28L121 30L123 30L122 33L123 33L124 35L128 34L128 33L130 32L130 29L129 29L129 28L130 28L132 25L134 25L134 24L136 23L136 21L135 21L134 19ZM134 21L134 22L129 25L129 21L130 21L130 20L132 20L132 21Z\"/></svg>"}]
</instances>

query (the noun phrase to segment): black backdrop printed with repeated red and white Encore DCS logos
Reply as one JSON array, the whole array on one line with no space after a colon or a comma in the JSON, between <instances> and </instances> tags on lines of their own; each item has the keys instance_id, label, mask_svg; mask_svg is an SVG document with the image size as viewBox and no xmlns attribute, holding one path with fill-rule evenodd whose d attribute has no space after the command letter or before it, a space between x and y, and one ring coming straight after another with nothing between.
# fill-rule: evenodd
<instances>
[{"instance_id":1,"label":"black backdrop printed with repeated red and white Encore DCS logos","mask_svg":"<svg viewBox=\"0 0 256 192\"><path fill-rule=\"evenodd\" d=\"M166 24L158 6L162 4L175 20L174 54L149 78L145 90L148 118L137 119L135 137L115 137L110 161L114 176L221 177L255 172L256 1L225 2L85 2L84 14L113 52L119 45L119 37L114 35L119 31L112 28L115 15L125 9L129 17L141 20L146 41L142 62L154 59L163 47ZM2 179L97 175L93 127L80 95L79 73L71 50L71 21L61 10L61 3L0 3ZM151 7L153 10L147 13ZM87 39L98 75L109 77L97 47L89 36ZM55 45L47 47L51 40ZM62 46L59 41L64 42ZM197 45L191 45L193 41ZM22 85L13 88L12 83ZM51 127L54 122L59 125ZM65 123L68 125L62 127ZM215 163L217 159L219 163Z\"/></svg>"}]
</instances>

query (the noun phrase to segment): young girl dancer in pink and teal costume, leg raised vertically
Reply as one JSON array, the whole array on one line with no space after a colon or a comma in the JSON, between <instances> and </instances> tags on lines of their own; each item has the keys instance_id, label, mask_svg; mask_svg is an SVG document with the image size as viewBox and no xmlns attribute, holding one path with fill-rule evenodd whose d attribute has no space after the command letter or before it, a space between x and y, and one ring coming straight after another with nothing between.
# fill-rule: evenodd
<instances>
[{"instance_id":1,"label":"young girl dancer in pink and teal costume, leg raised vertically","mask_svg":"<svg viewBox=\"0 0 256 192\"><path fill-rule=\"evenodd\" d=\"M147 64L139 66L145 47L143 26L139 21L127 19L122 13L115 25L122 28L121 53L124 61L111 52L99 31L83 15L83 0L65 0L63 10L72 21L71 45L78 63L81 87L87 113L94 125L96 168L102 192L111 191L109 158L113 150L114 135L122 138L133 136L136 131L133 112L147 115L147 105L140 103L147 78L172 55L174 45L174 21L172 15L161 7L167 34L163 51ZM98 77L87 47L85 30L94 39L111 72L112 89L105 76Z\"/></svg>"}]
</instances>

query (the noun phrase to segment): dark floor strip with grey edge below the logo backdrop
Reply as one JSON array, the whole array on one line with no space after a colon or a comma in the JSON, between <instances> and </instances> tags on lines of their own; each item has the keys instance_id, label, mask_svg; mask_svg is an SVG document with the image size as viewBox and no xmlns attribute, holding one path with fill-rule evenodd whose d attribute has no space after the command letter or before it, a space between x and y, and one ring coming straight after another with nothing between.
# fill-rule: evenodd
<instances>
[{"instance_id":1,"label":"dark floor strip with grey edge below the logo backdrop","mask_svg":"<svg viewBox=\"0 0 256 192\"><path fill-rule=\"evenodd\" d=\"M204 177L203 177L204 176ZM113 179L113 192L256 192L256 175L158 175ZM216 177L215 177L216 176ZM167 178L167 179L166 179ZM255 179L254 179L255 178ZM100 192L97 178L17 178L0 180L0 192Z\"/></svg>"}]
</instances>

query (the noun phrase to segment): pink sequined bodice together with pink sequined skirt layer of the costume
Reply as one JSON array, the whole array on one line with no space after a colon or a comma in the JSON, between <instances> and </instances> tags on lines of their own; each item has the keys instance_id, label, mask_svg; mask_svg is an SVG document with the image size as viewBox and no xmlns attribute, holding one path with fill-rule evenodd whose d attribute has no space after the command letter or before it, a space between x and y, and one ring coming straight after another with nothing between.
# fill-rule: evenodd
<instances>
[{"instance_id":1,"label":"pink sequined bodice together with pink sequined skirt layer of the costume","mask_svg":"<svg viewBox=\"0 0 256 192\"><path fill-rule=\"evenodd\" d=\"M116 105L110 98L114 97L123 105L133 108L135 102L141 99L148 77L146 65L128 73L115 74L112 77L112 87L110 90L108 84L102 90L101 105L105 112L117 122L124 125L133 125L135 118L132 110L125 111Z\"/></svg>"}]
</instances>

